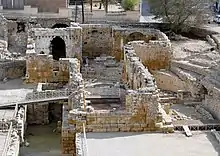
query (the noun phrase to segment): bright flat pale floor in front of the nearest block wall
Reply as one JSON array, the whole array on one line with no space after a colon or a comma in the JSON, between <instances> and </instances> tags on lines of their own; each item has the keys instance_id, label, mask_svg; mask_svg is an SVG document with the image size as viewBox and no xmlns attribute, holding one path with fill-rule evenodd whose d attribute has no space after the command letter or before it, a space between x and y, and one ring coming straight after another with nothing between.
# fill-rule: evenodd
<instances>
[{"instance_id":1,"label":"bright flat pale floor in front of the nearest block wall","mask_svg":"<svg viewBox=\"0 0 220 156\"><path fill-rule=\"evenodd\" d=\"M188 138L181 133L88 133L90 156L218 156L219 145L209 133Z\"/></svg>"}]
</instances>

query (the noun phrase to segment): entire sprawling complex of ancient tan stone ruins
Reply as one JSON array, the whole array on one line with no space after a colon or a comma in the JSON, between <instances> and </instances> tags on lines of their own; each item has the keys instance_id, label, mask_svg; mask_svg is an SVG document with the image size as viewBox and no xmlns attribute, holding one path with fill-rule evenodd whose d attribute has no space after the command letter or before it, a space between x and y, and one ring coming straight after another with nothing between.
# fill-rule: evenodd
<instances>
[{"instance_id":1,"label":"entire sprawling complex of ancient tan stone ruins","mask_svg":"<svg viewBox=\"0 0 220 156\"><path fill-rule=\"evenodd\" d=\"M220 118L219 68L213 61L220 57L211 49L174 60L171 42L159 30L65 19L58 20L65 27L56 28L56 20L1 17L0 79L24 76L26 83L38 84L27 101L63 97L62 111L55 109L62 114L57 118L63 156L85 155L86 132L174 132L160 89L175 92L175 102L199 102ZM217 49L215 37L207 40ZM106 97L113 104L94 104ZM26 113L30 124L49 123L48 103L16 106L14 141L24 142Z\"/></svg>"}]
</instances>

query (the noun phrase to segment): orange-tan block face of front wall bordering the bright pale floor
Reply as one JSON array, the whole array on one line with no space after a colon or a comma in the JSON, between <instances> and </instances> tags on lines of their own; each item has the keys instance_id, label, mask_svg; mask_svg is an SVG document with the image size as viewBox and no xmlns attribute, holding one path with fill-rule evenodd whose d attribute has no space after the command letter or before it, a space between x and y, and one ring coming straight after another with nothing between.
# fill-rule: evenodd
<instances>
[{"instance_id":1,"label":"orange-tan block face of front wall bordering the bright pale floor","mask_svg":"<svg viewBox=\"0 0 220 156\"><path fill-rule=\"evenodd\" d=\"M143 115L143 116L142 116ZM143 132L156 131L154 121L146 122L144 114L134 115L128 112L88 113L86 118L87 132ZM77 124L77 131L82 125Z\"/></svg>"}]
</instances>

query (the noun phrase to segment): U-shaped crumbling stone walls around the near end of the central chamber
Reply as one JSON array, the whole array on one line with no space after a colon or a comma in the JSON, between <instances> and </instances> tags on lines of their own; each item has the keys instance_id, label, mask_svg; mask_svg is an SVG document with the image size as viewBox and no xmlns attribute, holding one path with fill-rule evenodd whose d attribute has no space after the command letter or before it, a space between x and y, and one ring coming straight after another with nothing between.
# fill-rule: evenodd
<instances>
[{"instance_id":1,"label":"U-shaped crumbling stone walls around the near end of the central chamber","mask_svg":"<svg viewBox=\"0 0 220 156\"><path fill-rule=\"evenodd\" d=\"M124 109L87 111L82 77L79 79L81 83L70 96L69 107L63 110L63 154L81 155L86 150L79 135L84 128L85 132L173 132L172 121L159 103L155 79L129 44L124 47L124 69Z\"/></svg>"}]
</instances>

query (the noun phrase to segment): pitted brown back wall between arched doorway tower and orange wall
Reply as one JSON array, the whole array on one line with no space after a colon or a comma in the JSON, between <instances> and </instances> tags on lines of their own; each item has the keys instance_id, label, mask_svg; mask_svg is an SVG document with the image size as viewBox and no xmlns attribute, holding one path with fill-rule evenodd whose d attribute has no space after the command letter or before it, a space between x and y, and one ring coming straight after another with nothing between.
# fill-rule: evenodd
<instances>
[{"instance_id":1,"label":"pitted brown back wall between arched doorway tower and orange wall","mask_svg":"<svg viewBox=\"0 0 220 156\"><path fill-rule=\"evenodd\" d=\"M104 24L81 24L83 55L97 57L112 51L112 27Z\"/></svg>"}]
</instances>

